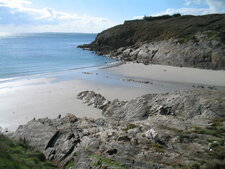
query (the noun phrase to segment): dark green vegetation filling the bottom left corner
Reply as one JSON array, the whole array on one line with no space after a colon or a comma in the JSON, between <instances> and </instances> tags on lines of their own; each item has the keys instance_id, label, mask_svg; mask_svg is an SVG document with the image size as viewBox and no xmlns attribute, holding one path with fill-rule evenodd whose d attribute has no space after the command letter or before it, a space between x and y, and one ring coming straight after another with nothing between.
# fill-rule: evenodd
<instances>
[{"instance_id":1,"label":"dark green vegetation filling the bottom left corner","mask_svg":"<svg viewBox=\"0 0 225 169\"><path fill-rule=\"evenodd\" d=\"M0 134L0 169L56 169L45 156L29 147L25 140L13 142Z\"/></svg>"}]
</instances>

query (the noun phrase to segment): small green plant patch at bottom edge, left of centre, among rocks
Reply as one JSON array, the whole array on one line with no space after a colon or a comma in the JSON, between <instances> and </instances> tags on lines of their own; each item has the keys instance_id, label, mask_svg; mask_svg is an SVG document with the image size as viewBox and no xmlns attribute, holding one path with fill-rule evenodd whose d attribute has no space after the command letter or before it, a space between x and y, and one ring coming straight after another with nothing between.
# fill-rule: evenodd
<instances>
[{"instance_id":1,"label":"small green plant patch at bottom edge, left of centre, among rocks","mask_svg":"<svg viewBox=\"0 0 225 169\"><path fill-rule=\"evenodd\" d=\"M94 162L92 163L94 167L107 168L107 169L128 169L126 166L109 158L96 156L96 155L91 155L91 158L94 160Z\"/></svg>"}]
</instances>

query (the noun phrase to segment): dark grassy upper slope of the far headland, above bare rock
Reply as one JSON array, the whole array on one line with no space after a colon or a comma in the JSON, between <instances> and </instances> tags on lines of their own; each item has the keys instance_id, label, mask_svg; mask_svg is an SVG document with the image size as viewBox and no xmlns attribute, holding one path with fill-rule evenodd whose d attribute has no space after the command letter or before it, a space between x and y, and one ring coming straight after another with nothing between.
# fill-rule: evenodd
<instances>
[{"instance_id":1,"label":"dark grassy upper slope of the far headland, above bare rock","mask_svg":"<svg viewBox=\"0 0 225 169\"><path fill-rule=\"evenodd\" d=\"M122 25L100 33L93 44L95 49L97 46L97 50L104 52L134 45L137 42L153 42L170 38L185 41L197 32L206 31L210 32L212 38L221 37L225 42L225 14L125 21Z\"/></svg>"}]
</instances>

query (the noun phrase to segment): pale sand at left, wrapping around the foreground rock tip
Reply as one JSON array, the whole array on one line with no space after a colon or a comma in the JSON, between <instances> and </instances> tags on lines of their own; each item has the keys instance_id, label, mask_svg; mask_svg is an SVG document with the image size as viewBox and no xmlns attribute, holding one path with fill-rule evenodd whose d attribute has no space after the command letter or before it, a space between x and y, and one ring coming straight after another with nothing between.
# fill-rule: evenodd
<instances>
[{"instance_id":1,"label":"pale sand at left, wrapping around the foreground rock tip","mask_svg":"<svg viewBox=\"0 0 225 169\"><path fill-rule=\"evenodd\" d=\"M79 78L57 82L56 78L45 77L22 79L2 83L0 88L0 126L9 130L15 130L33 118L56 118L67 113L77 117L102 117L99 109L77 99L77 94L84 90L102 93L111 100L117 97L127 100L147 93L147 89L113 86ZM121 91L123 94L120 94Z\"/></svg>"}]
</instances>

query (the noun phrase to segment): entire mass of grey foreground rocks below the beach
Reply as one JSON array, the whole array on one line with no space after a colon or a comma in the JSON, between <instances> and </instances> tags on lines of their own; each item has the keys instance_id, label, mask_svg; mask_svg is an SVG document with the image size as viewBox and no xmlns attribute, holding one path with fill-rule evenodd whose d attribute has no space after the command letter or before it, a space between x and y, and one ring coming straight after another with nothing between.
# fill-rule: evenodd
<instances>
[{"instance_id":1,"label":"entire mass of grey foreground rocks below the beach","mask_svg":"<svg viewBox=\"0 0 225 169\"><path fill-rule=\"evenodd\" d=\"M224 96L223 91L196 89L108 101L85 91L78 98L102 109L105 119L32 120L12 138L74 169L223 168Z\"/></svg>"}]
</instances>

